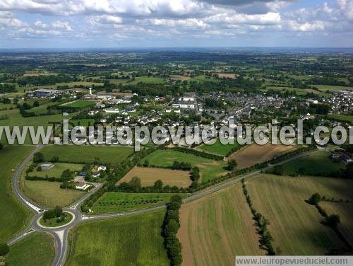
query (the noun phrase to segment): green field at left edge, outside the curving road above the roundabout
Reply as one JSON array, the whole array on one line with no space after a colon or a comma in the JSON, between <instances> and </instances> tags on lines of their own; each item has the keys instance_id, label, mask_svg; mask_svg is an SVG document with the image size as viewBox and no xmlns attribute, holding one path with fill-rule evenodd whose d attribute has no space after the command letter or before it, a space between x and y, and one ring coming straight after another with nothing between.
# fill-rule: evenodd
<instances>
[{"instance_id":1,"label":"green field at left edge, outside the curving road above the roundabout","mask_svg":"<svg viewBox=\"0 0 353 266\"><path fill-rule=\"evenodd\" d=\"M30 146L4 146L0 150L0 243L27 225L30 212L11 192L12 170L27 156Z\"/></svg>"}]
</instances>

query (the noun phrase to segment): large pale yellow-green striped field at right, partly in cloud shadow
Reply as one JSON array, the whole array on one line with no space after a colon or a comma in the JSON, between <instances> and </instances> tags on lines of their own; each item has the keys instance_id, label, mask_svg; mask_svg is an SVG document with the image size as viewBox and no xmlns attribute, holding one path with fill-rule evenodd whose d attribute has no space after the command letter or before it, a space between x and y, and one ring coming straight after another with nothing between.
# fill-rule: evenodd
<instances>
[{"instance_id":1,"label":"large pale yellow-green striped field at right, partly in cloud shadow","mask_svg":"<svg viewBox=\"0 0 353 266\"><path fill-rule=\"evenodd\" d=\"M258 175L247 181L255 209L270 221L273 247L280 255L325 255L342 243L321 224L318 210L305 202L313 193L352 199L353 180Z\"/></svg>"}]
</instances>

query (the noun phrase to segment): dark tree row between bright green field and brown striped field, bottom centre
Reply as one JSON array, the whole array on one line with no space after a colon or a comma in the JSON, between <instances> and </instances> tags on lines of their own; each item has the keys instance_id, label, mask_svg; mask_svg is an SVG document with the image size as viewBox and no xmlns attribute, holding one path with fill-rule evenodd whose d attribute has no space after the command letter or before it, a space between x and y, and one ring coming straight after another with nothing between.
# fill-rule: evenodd
<instances>
[{"instance_id":1,"label":"dark tree row between bright green field and brown striped field, bottom centre","mask_svg":"<svg viewBox=\"0 0 353 266\"><path fill-rule=\"evenodd\" d=\"M181 197L174 195L167 206L167 213L164 216L163 236L164 247L172 266L181 265L183 258L181 256L181 243L177 238L177 232L180 228L179 209L181 207Z\"/></svg>"}]
</instances>

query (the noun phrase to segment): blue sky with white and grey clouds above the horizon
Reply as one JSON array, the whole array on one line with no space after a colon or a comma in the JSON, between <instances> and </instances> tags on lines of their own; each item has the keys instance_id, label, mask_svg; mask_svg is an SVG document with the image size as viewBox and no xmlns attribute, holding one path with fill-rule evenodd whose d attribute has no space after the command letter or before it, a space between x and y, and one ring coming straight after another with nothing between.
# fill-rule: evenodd
<instances>
[{"instance_id":1,"label":"blue sky with white and grey clouds above the horizon","mask_svg":"<svg viewBox=\"0 0 353 266\"><path fill-rule=\"evenodd\" d=\"M0 47L352 47L353 0L0 0Z\"/></svg>"}]
</instances>

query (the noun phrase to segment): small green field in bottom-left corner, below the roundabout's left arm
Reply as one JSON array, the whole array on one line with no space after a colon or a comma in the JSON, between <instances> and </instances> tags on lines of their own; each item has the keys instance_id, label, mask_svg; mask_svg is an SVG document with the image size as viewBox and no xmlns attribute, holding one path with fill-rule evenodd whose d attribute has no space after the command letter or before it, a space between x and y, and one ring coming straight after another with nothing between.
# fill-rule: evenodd
<instances>
[{"instance_id":1,"label":"small green field in bottom-left corner, below the roundabout's left arm","mask_svg":"<svg viewBox=\"0 0 353 266\"><path fill-rule=\"evenodd\" d=\"M49 266L54 259L54 240L47 233L31 233L11 246L5 262L9 266Z\"/></svg>"}]
</instances>

